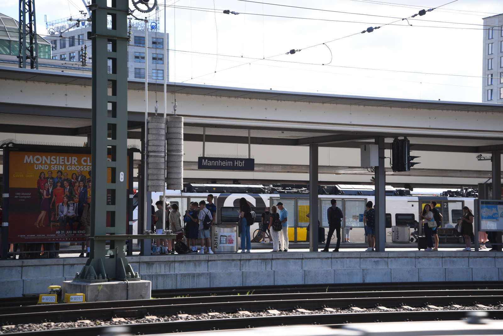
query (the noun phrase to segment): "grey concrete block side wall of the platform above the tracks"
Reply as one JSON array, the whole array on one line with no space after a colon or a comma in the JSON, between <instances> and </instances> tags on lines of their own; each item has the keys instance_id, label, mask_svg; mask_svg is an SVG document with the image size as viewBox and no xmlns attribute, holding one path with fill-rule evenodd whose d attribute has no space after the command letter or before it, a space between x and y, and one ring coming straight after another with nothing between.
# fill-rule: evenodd
<instances>
[{"instance_id":1,"label":"grey concrete block side wall of the platform above the tracks","mask_svg":"<svg viewBox=\"0 0 503 336\"><path fill-rule=\"evenodd\" d=\"M133 256L128 260L152 289L391 283L503 281L500 252L392 250L385 253L288 251L214 255ZM0 297L47 292L72 280L85 258L0 261Z\"/></svg>"}]
</instances>

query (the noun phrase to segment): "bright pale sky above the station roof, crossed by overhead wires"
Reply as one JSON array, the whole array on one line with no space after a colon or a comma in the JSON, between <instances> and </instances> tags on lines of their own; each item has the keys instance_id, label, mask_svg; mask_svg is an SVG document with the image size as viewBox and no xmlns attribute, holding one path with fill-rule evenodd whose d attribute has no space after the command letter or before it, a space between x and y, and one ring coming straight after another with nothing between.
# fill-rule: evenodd
<instances>
[{"instance_id":1,"label":"bright pale sky above the station roof, crossed by overhead wires","mask_svg":"<svg viewBox=\"0 0 503 336\"><path fill-rule=\"evenodd\" d=\"M481 102L480 25L503 13L503 2L449 1L158 0L158 15L163 30L166 9L170 81ZM36 0L38 33L46 33L45 15L52 21L84 9L81 0ZM17 19L18 1L3 2L0 12ZM285 54L291 49L300 51Z\"/></svg>"}]
</instances>

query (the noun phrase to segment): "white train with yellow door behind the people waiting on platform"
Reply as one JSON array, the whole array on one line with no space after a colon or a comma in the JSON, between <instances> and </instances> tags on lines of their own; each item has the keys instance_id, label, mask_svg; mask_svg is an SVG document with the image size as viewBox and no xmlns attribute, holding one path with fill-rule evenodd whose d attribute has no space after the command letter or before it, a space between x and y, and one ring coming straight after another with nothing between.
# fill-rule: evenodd
<instances>
[{"instance_id":1,"label":"white train with yellow door behind the people waiting on platform","mask_svg":"<svg viewBox=\"0 0 503 336\"><path fill-rule=\"evenodd\" d=\"M309 218L306 216L309 213L309 193L305 189L280 191L288 193L266 193L268 188L262 185L192 184L191 186L199 186L200 188L193 188L192 192L166 191L166 201L178 203L183 214L188 209L190 202L206 201L208 194L212 194L214 196L214 203L217 206L217 219L215 222L236 223L238 220L236 210L239 206L239 199L244 197L257 213L257 222L250 228L252 235L259 228L259 222L261 221L261 215L265 207L270 207L281 201L288 211L289 240L306 241L307 226L309 224ZM338 185L336 187L338 187L336 188L338 194L318 196L319 221L321 227L325 228L325 235L328 232L326 209L330 207L330 200L336 199L337 206L343 210L344 214L343 228L353 228L350 233L350 241L364 242L363 211L368 201L375 203L373 186ZM205 192L199 192L197 189L204 190ZM232 189L244 190L245 192L233 193ZM261 190L263 193L260 193ZM475 199L473 197L435 195L408 196L408 190L395 189L390 186L386 186L386 194L390 195L386 196L386 241L388 242L392 241L392 226L412 226L413 221L419 219L419 214L424 204L436 201L437 207L443 215L442 227L453 228L456 225L457 219L462 216L463 206L468 206L473 211ZM396 196L400 194L404 196ZM154 203L162 199L162 193L152 193L152 199ZM137 218L137 214L134 214L133 218ZM133 227L134 231L136 231L136 225ZM141 229L138 231L142 232ZM344 234L344 230L342 232Z\"/></svg>"}]
</instances>

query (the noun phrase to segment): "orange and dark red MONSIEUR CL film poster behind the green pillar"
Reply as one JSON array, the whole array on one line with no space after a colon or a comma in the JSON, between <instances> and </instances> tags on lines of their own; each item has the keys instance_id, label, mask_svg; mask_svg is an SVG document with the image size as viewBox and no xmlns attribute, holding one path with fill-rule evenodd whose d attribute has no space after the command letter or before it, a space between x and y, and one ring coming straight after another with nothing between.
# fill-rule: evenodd
<instances>
[{"instance_id":1,"label":"orange and dark red MONSIEUR CL film poster behind the green pillar","mask_svg":"<svg viewBox=\"0 0 503 336\"><path fill-rule=\"evenodd\" d=\"M9 243L86 241L81 217L92 196L91 148L10 148L8 164Z\"/></svg>"}]
</instances>

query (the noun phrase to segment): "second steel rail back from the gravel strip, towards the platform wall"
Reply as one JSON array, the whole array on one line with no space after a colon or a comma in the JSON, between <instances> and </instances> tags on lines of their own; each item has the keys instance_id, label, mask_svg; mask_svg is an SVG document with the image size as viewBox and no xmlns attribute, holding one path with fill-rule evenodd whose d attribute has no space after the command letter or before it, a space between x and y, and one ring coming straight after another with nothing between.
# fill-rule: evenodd
<instances>
[{"instance_id":1,"label":"second steel rail back from the gravel strip, towards the platform wall","mask_svg":"<svg viewBox=\"0 0 503 336\"><path fill-rule=\"evenodd\" d=\"M281 294L253 294L253 295L226 295L226 296L196 296L165 299L144 299L127 301L103 301L72 304L45 304L21 307L1 307L0 316L11 314L27 314L50 311L70 311L87 309L128 308L143 306L169 306L188 304L211 304L218 302L249 302L249 301L282 301L282 300L327 300L327 299L353 299L353 298L390 298L390 297L435 297L436 295L453 297L498 296L503 297L501 289L482 290L422 290L422 291L372 291L372 292L326 292L326 293L281 293ZM204 312L204 311L203 311Z\"/></svg>"}]
</instances>

